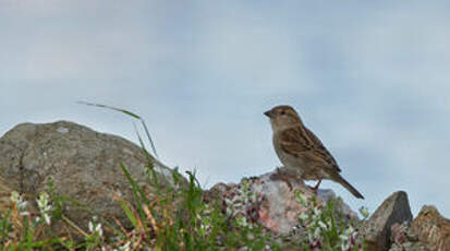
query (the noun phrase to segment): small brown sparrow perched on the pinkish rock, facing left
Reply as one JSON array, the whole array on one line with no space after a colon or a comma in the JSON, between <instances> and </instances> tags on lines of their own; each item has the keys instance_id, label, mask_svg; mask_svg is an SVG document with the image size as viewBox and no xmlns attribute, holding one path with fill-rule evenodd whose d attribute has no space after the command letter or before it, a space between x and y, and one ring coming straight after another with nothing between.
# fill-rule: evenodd
<instances>
[{"instance_id":1,"label":"small brown sparrow perched on the pinkish rock, facing left","mask_svg":"<svg viewBox=\"0 0 450 251\"><path fill-rule=\"evenodd\" d=\"M275 152L288 170L303 180L318 180L313 188L317 192L323 179L342 184L354 196L364 196L340 175L341 169L320 140L307 129L291 106L276 106L264 112L270 119Z\"/></svg>"}]
</instances>

